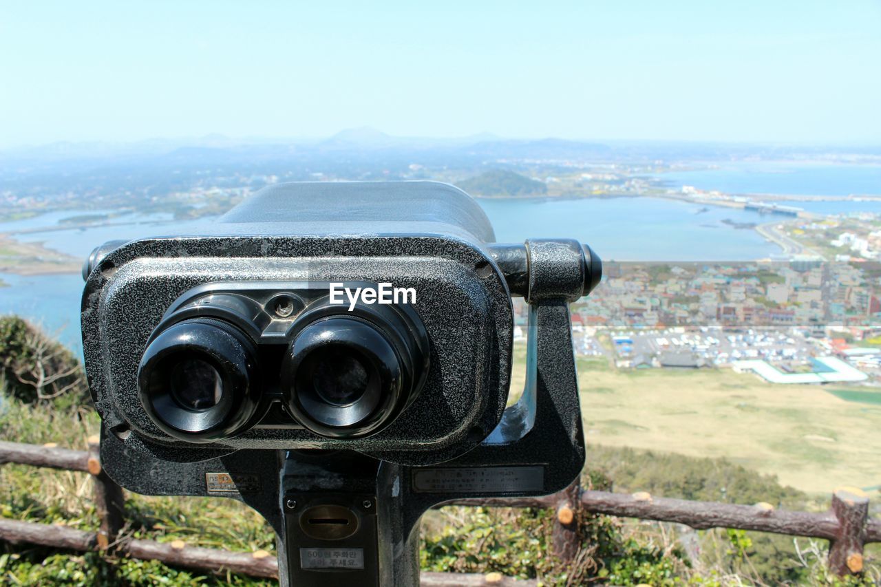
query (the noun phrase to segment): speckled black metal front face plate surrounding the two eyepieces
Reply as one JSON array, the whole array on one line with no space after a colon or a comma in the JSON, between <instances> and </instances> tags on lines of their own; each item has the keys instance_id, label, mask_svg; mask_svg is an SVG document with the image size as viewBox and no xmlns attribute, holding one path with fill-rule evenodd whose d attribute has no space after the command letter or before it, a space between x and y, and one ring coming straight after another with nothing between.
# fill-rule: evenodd
<instances>
[{"instance_id":1,"label":"speckled black metal front face plate surrounding the two eyepieces","mask_svg":"<svg viewBox=\"0 0 881 587\"><path fill-rule=\"evenodd\" d=\"M211 456L211 450L224 449L322 448L420 464L470 449L498 423L507 399L512 318L500 276L483 269L489 265L477 249L455 241L396 237L349 243L260 238L251 241L253 250L240 245L241 256L231 257L224 256L226 239L138 241L107 256L102 265L114 264L115 272L100 293L89 294L84 311L86 369L101 417L111 427L129 424L130 446L178 461L197 460L202 450ZM159 256L171 247L178 256ZM332 262L321 258L327 249L336 252ZM87 287L95 279L103 279L100 271L93 271ZM417 290L413 308L429 333L432 368L424 390L390 427L346 441L305 430L252 429L225 442L181 447L146 417L137 396L137 364L147 338L181 294L211 281L331 279L390 281ZM479 438L476 429L483 431Z\"/></svg>"}]
</instances>

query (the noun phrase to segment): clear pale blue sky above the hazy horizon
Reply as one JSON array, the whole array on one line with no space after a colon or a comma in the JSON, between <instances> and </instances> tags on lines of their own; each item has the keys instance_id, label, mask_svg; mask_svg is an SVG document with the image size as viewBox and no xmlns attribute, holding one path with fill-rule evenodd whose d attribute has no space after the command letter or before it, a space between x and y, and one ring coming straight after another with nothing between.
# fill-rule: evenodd
<instances>
[{"instance_id":1,"label":"clear pale blue sky above the hazy horizon","mask_svg":"<svg viewBox=\"0 0 881 587\"><path fill-rule=\"evenodd\" d=\"M363 125L881 144L878 0L513 4L4 3L0 146Z\"/></svg>"}]
</instances>

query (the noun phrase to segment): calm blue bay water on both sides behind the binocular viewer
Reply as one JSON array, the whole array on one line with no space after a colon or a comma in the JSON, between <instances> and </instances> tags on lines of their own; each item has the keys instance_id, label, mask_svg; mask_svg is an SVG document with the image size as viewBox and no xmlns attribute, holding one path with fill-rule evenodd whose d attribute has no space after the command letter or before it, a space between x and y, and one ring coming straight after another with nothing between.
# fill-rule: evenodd
<instances>
[{"instance_id":1,"label":"calm blue bay water on both sides behind the binocular viewer","mask_svg":"<svg viewBox=\"0 0 881 587\"><path fill-rule=\"evenodd\" d=\"M707 172L695 172L707 173ZM720 206L703 206L656 197L478 200L492 222L496 240L574 238L588 243L606 260L748 261L780 249L749 226L773 216ZM873 211L871 202L790 201L823 213ZM110 213L113 211L101 211ZM93 211L50 212L0 224L0 232L85 259L92 249L112 240L159 234L186 234L213 219L174 220L170 215L126 212L89 227L68 227L70 218ZM740 225L738 228L737 225ZM83 282L70 275L0 275L0 313L15 313L40 323L65 345L80 350L79 299Z\"/></svg>"}]
</instances>

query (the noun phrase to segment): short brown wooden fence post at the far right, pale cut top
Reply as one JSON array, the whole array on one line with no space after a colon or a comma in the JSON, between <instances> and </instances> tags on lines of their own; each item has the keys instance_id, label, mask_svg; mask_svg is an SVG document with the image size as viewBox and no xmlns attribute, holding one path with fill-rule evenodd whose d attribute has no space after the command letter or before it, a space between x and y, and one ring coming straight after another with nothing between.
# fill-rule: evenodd
<instances>
[{"instance_id":1,"label":"short brown wooden fence post at the far right, pale cut top","mask_svg":"<svg viewBox=\"0 0 881 587\"><path fill-rule=\"evenodd\" d=\"M832 495L832 511L839 529L829 543L829 568L839 576L859 573L869 496L856 487L839 487Z\"/></svg>"}]
</instances>

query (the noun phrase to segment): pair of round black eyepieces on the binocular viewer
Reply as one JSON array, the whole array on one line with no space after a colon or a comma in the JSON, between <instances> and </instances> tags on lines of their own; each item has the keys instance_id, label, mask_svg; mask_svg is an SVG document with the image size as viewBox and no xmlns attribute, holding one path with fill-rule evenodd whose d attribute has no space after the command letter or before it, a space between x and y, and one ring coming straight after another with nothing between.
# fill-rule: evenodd
<instances>
[{"instance_id":1,"label":"pair of round black eyepieces on the binocular viewer","mask_svg":"<svg viewBox=\"0 0 881 587\"><path fill-rule=\"evenodd\" d=\"M278 342L261 345L218 317L160 324L138 368L141 403L157 426L188 442L239 435L273 402L315 434L370 435L418 392L426 341L409 330L382 316L306 318L293 323L279 357Z\"/></svg>"}]
</instances>

